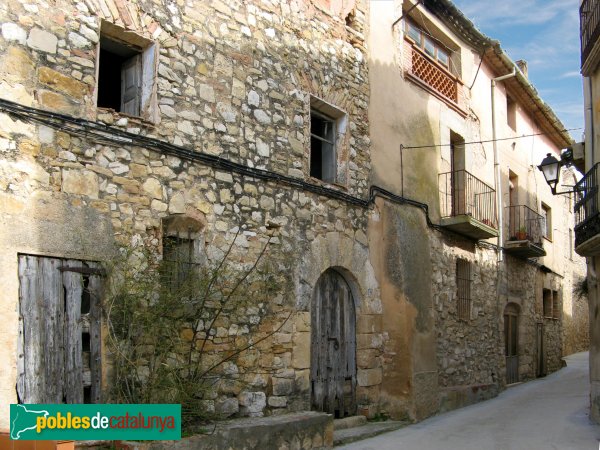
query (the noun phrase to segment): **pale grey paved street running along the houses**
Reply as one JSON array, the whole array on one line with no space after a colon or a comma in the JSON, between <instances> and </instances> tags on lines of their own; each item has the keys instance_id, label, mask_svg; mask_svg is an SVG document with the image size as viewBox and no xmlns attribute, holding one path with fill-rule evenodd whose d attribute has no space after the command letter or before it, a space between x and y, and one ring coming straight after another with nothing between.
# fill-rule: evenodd
<instances>
[{"instance_id":1,"label":"pale grey paved street running along the houses","mask_svg":"<svg viewBox=\"0 0 600 450\"><path fill-rule=\"evenodd\" d=\"M344 447L355 450L597 450L600 426L588 420L588 354L512 387L487 402Z\"/></svg>"}]
</instances>

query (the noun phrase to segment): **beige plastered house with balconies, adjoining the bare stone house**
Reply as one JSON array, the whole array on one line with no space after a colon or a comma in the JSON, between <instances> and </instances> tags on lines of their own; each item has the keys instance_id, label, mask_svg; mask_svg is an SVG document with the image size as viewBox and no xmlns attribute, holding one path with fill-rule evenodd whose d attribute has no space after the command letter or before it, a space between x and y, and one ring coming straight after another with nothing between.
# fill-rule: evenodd
<instances>
[{"instance_id":1,"label":"beige plastered house with balconies, adjoining the bare stone house","mask_svg":"<svg viewBox=\"0 0 600 450\"><path fill-rule=\"evenodd\" d=\"M573 199L536 168L572 140L526 63L449 1L373 2L367 43L372 180L404 199L376 202L369 227L385 236L371 250L396 359L381 407L419 419L585 349Z\"/></svg>"}]
</instances>

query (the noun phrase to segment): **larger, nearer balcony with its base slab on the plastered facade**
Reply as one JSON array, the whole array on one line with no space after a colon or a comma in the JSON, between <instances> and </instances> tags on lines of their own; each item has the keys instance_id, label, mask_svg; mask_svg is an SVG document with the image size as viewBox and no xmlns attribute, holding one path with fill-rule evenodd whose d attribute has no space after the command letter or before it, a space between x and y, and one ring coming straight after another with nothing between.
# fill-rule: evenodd
<instances>
[{"instance_id":1,"label":"larger, nearer balcony with its base slab on the plastered facade","mask_svg":"<svg viewBox=\"0 0 600 450\"><path fill-rule=\"evenodd\" d=\"M472 239L498 236L496 191L466 170L439 175L440 225Z\"/></svg>"}]
</instances>

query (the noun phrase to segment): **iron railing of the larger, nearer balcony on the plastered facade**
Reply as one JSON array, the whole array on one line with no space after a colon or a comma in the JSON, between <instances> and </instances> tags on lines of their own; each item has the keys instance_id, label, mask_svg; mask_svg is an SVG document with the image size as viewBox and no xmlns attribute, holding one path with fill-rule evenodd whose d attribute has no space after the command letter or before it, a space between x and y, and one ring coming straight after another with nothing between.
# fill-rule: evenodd
<instances>
[{"instance_id":1,"label":"iron railing of the larger, nearer balcony on the plastered facade","mask_svg":"<svg viewBox=\"0 0 600 450\"><path fill-rule=\"evenodd\" d=\"M468 215L498 229L496 191L466 170L439 175L442 218Z\"/></svg>"}]
</instances>

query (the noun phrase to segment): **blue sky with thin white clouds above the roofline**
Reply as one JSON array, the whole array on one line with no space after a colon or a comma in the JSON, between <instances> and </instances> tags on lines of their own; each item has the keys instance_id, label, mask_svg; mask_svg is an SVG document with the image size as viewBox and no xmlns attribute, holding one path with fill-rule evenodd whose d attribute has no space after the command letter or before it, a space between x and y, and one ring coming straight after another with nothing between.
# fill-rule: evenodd
<instances>
[{"instance_id":1,"label":"blue sky with thin white clouds above the roofline","mask_svg":"<svg viewBox=\"0 0 600 450\"><path fill-rule=\"evenodd\" d=\"M577 141L583 132L579 0L454 0L484 34L500 41Z\"/></svg>"}]
</instances>

